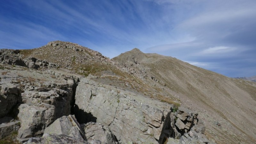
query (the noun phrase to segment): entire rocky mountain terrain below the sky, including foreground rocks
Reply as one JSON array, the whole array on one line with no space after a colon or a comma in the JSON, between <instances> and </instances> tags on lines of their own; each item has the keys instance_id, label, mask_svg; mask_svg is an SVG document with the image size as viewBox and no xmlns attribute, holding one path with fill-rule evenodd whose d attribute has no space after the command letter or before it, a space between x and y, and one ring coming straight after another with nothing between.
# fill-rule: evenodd
<instances>
[{"instance_id":1,"label":"entire rocky mountain terrain below the sky, including foreground rocks","mask_svg":"<svg viewBox=\"0 0 256 144\"><path fill-rule=\"evenodd\" d=\"M132 49L0 50L0 143L256 143L256 83Z\"/></svg>"}]
</instances>

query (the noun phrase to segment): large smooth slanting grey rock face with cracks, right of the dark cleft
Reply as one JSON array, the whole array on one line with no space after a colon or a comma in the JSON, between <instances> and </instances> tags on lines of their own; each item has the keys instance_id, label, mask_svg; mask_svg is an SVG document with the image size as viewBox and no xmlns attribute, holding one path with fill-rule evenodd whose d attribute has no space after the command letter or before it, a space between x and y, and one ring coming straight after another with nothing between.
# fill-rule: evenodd
<instances>
[{"instance_id":1,"label":"large smooth slanting grey rock face with cracks, right of the dark cleft","mask_svg":"<svg viewBox=\"0 0 256 144\"><path fill-rule=\"evenodd\" d=\"M87 120L109 125L121 143L158 143L172 105L131 92L81 79L76 88L76 111ZM86 115L87 114L87 115ZM76 114L77 116L81 115ZM83 121L84 117L78 117Z\"/></svg>"}]
</instances>

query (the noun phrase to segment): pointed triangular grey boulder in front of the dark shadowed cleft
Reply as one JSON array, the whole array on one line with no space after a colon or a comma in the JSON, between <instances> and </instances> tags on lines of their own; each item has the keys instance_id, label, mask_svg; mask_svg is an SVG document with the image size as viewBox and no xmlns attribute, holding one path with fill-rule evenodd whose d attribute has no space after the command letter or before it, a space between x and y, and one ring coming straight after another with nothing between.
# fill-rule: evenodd
<instances>
[{"instance_id":1,"label":"pointed triangular grey boulder in front of the dark shadowed cleft","mask_svg":"<svg viewBox=\"0 0 256 144\"><path fill-rule=\"evenodd\" d=\"M80 124L73 115L62 116L55 120L49 127L45 128L44 135L45 134L64 134L77 139L86 140L84 132L80 128Z\"/></svg>"}]
</instances>

